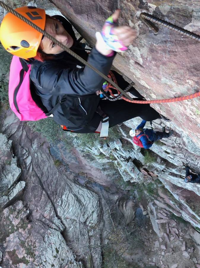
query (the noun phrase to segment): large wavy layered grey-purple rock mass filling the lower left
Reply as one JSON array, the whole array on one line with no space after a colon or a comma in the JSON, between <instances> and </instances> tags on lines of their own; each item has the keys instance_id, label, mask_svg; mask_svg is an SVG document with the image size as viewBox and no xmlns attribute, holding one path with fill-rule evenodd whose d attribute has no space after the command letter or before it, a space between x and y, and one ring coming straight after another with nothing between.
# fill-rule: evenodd
<instances>
[{"instance_id":1,"label":"large wavy layered grey-purple rock mass filling the lower left","mask_svg":"<svg viewBox=\"0 0 200 268\"><path fill-rule=\"evenodd\" d=\"M78 162L65 148L65 164L56 162L45 139L16 120L12 111L4 119L4 134L0 134L2 267L101 267L104 217L107 230L111 208L116 221L132 222L134 200L119 191L108 201L108 193L95 182L91 187L98 195L78 174L88 172L81 159ZM63 152L62 143L54 145L52 152L53 148ZM94 180L97 173L115 190L98 167Z\"/></svg>"}]
</instances>

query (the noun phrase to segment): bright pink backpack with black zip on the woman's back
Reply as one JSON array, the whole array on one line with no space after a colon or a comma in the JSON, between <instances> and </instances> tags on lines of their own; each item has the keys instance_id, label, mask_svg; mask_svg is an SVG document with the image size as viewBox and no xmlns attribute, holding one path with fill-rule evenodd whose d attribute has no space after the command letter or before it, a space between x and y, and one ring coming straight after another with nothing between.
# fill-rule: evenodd
<instances>
[{"instance_id":1,"label":"bright pink backpack with black zip on the woman's back","mask_svg":"<svg viewBox=\"0 0 200 268\"><path fill-rule=\"evenodd\" d=\"M36 104L31 96L31 65L17 56L12 57L9 76L10 108L20 121L37 121L47 118L45 112Z\"/></svg>"}]
</instances>

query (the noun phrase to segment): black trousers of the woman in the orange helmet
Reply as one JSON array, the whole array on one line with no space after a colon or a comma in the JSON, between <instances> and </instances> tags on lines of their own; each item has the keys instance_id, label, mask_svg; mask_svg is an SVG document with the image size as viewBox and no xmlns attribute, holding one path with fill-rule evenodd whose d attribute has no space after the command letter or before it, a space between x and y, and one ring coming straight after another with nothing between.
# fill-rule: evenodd
<instances>
[{"instance_id":1,"label":"black trousers of the woman in the orange helmet","mask_svg":"<svg viewBox=\"0 0 200 268\"><path fill-rule=\"evenodd\" d=\"M126 82L120 74L115 71L112 72L114 73L120 88L124 89L129 85L128 82ZM136 99L142 98L142 95L139 94L135 88L132 88L129 92L136 96ZM137 116L146 121L153 121L155 119L161 118L159 113L150 107L149 104L131 103L126 102L125 100L117 100L111 102L106 99L101 99L99 105L101 107L101 110L109 116L109 127L113 127ZM76 132L92 133L97 129L100 121L101 117L99 114L95 113L92 121L90 122L90 127L84 127L82 130L78 130Z\"/></svg>"}]
</instances>

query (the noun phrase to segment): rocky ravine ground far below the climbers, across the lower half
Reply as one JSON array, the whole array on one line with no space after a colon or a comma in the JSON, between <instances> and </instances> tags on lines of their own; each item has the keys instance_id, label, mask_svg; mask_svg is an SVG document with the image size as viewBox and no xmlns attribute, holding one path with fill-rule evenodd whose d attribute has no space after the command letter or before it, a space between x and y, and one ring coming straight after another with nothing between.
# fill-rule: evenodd
<instances>
[{"instance_id":1,"label":"rocky ravine ground far below the climbers, across the lower half","mask_svg":"<svg viewBox=\"0 0 200 268\"><path fill-rule=\"evenodd\" d=\"M1 118L1 267L200 265L183 166L134 149L125 125L111 141L55 132L49 144L10 110Z\"/></svg>"}]
</instances>

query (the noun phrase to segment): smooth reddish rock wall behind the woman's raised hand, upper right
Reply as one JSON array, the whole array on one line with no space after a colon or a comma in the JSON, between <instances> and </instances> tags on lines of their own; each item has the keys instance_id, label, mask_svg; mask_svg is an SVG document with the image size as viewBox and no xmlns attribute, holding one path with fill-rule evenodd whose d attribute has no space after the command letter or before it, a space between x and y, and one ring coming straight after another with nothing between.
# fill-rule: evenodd
<instances>
[{"instance_id":1,"label":"smooth reddish rock wall behind the woman's raised hand, upper right","mask_svg":"<svg viewBox=\"0 0 200 268\"><path fill-rule=\"evenodd\" d=\"M158 35L154 35L139 19L139 14L146 12L199 34L198 1L52 2L92 45L95 32L101 30L105 19L116 8L122 10L120 24L134 27L138 37L126 52L118 53L114 67L134 81L146 99L173 98L199 91L198 41L162 26L158 27ZM181 135L190 152L200 155L199 105L196 98L153 107L172 119L170 127Z\"/></svg>"}]
</instances>

